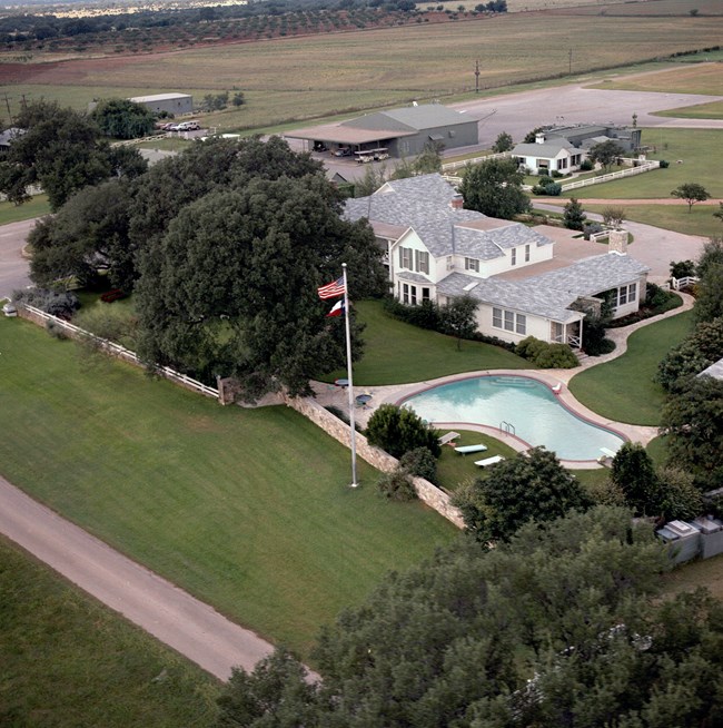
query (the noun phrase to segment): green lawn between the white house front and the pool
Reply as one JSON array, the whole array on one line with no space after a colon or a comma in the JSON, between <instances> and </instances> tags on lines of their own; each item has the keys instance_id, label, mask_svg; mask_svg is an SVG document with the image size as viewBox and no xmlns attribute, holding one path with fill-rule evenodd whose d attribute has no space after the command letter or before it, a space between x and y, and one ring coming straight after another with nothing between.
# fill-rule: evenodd
<instances>
[{"instance_id":1,"label":"green lawn between the white house front and the pool","mask_svg":"<svg viewBox=\"0 0 723 728\"><path fill-rule=\"evenodd\" d=\"M535 368L524 358L489 344L463 342L462 351L457 351L455 338L392 318L379 301L361 301L355 308L359 321L367 325L364 358L354 366L355 385L423 382L479 370ZM324 381L339 376L346 376L346 372L338 370Z\"/></svg>"}]
</instances>

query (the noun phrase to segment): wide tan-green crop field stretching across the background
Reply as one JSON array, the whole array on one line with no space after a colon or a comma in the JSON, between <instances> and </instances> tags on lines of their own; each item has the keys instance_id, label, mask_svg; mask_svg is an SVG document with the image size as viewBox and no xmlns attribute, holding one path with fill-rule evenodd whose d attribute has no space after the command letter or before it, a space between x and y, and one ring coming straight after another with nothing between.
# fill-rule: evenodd
<instances>
[{"instance_id":1,"label":"wide tan-green crop field stretching across the background","mask_svg":"<svg viewBox=\"0 0 723 728\"><path fill-rule=\"evenodd\" d=\"M648 3L650 4L650 3ZM93 97L161 90L241 89L247 105L208 117L225 129L258 128L410 99L612 68L720 42L723 17L613 18L512 13L448 22L195 48L180 52L42 63L2 63L0 77L18 101L67 88L75 105ZM591 38L605 42L591 43ZM524 53L521 49L524 48ZM87 89L85 92L82 89ZM53 90L50 90L53 89ZM65 97L63 97L65 98Z\"/></svg>"}]
</instances>

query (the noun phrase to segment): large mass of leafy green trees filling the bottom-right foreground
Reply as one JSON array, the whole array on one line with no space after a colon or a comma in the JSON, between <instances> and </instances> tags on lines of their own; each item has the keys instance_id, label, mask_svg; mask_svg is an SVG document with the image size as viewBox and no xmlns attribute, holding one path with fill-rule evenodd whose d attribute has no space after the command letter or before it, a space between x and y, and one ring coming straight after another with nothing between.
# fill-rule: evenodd
<instances>
[{"instance_id":1,"label":"large mass of leafy green trees filling the bottom-right foreground","mask_svg":"<svg viewBox=\"0 0 723 728\"><path fill-rule=\"evenodd\" d=\"M218 726L717 725L723 609L654 599L666 561L647 525L604 508L489 552L459 541L323 630L320 683L284 650L237 671Z\"/></svg>"}]
</instances>

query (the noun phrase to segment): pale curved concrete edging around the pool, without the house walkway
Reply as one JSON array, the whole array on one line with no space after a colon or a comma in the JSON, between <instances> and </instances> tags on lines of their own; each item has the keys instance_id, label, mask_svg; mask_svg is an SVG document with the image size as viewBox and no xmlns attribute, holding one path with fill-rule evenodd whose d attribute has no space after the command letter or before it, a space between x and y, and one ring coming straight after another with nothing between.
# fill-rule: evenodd
<instances>
[{"instance_id":1,"label":"pale curved concrete edging around the pool, without the house walkway","mask_svg":"<svg viewBox=\"0 0 723 728\"><path fill-rule=\"evenodd\" d=\"M640 442L643 445L647 445L653 437L657 436L657 427L648 427L643 425L631 425L624 422L615 422L614 420L607 420L602 417L597 413L593 412L584 404L578 402L575 396L567 388L567 384L562 381L562 377L556 375L556 370L483 370L478 372L465 372L464 374L452 374L448 376L438 377L436 380L428 380L425 382L416 382L413 384L398 385L394 388L397 390L395 393L390 393L390 396L386 399L386 402L390 402L396 405L400 405L405 400L409 397L422 394L428 390L432 390L436 386L443 384L450 384L454 382L462 382L465 380L474 380L483 376L518 376L528 380L535 380L539 384L545 385L549 388L553 394L556 394L557 401L563 407L565 407L573 416L587 422L588 424L602 427L607 430L613 434L622 437L627 442ZM555 392L555 388L559 385L559 392ZM517 437L516 435L507 434L502 432L498 427L492 425L483 425L479 423L469 423L469 422L435 422L435 426L456 426L463 427L465 430L478 431L485 434L489 434L502 442L513 446L517 452L523 452L528 450L533 445L526 441ZM514 443L514 444L513 444ZM595 468L602 468L601 463L596 460L562 460L559 461L565 468L577 469L577 470L592 470Z\"/></svg>"}]
</instances>

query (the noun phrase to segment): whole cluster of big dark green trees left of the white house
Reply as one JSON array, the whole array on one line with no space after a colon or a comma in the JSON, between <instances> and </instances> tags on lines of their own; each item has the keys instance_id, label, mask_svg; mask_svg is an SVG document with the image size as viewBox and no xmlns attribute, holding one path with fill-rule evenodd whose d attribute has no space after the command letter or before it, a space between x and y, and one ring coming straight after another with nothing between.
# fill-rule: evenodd
<instances>
[{"instance_id":1,"label":"whole cluster of big dark green trees left of the white house","mask_svg":"<svg viewBox=\"0 0 723 728\"><path fill-rule=\"evenodd\" d=\"M209 139L148 169L55 104L30 105L23 122L0 189L22 201L40 183L49 195L55 214L29 235L38 286L93 286L107 268L135 294L149 367L235 376L247 399L307 394L313 375L344 363L343 327L316 288L345 262L353 297L382 293L382 249L367 223L340 217L341 196L309 154L278 137ZM111 165L117 155L132 174ZM356 357L361 346L355 336Z\"/></svg>"}]
</instances>

